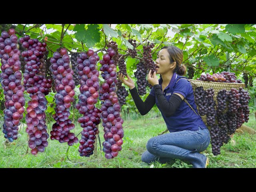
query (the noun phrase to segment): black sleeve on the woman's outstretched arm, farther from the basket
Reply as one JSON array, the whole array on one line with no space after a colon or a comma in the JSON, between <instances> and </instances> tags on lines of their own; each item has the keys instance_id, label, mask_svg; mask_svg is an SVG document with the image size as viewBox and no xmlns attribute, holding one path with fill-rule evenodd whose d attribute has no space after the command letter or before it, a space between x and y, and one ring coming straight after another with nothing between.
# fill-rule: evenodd
<instances>
[{"instance_id":1,"label":"black sleeve on the woman's outstretched arm, farther from the basket","mask_svg":"<svg viewBox=\"0 0 256 192\"><path fill-rule=\"evenodd\" d=\"M141 115L146 115L156 103L155 96L151 94L149 94L145 102L143 102L142 99L140 98L140 95L138 94L136 87L134 87L133 89L129 89L129 91Z\"/></svg>"}]
</instances>

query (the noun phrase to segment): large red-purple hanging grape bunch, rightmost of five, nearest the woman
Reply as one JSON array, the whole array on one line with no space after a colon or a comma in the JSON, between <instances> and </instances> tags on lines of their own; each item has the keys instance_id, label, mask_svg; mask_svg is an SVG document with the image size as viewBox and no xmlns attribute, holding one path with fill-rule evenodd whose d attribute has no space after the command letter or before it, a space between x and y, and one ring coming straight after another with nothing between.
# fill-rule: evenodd
<instances>
[{"instance_id":1,"label":"large red-purple hanging grape bunch, rightmost of five, nearest the woman","mask_svg":"<svg viewBox=\"0 0 256 192\"><path fill-rule=\"evenodd\" d=\"M116 65L118 64L118 51L116 42L111 41L107 45L107 53L100 60L104 83L100 86L101 111L100 118L104 127L103 151L107 159L114 158L122 150L124 131L123 120L120 117L121 105L118 103L116 90Z\"/></svg>"}]
</instances>

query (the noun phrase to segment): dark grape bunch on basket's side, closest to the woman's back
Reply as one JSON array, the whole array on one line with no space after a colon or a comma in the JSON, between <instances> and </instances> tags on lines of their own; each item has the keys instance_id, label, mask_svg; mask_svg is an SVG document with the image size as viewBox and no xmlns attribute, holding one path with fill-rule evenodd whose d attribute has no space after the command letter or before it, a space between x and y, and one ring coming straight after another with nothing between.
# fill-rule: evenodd
<instances>
[{"instance_id":1,"label":"dark grape bunch on basket's side, closest to the woman's back","mask_svg":"<svg viewBox=\"0 0 256 192\"><path fill-rule=\"evenodd\" d=\"M195 102L198 106L198 112L201 116L208 113L208 99L206 98L206 93L202 86L197 87L194 92Z\"/></svg>"}]
</instances>

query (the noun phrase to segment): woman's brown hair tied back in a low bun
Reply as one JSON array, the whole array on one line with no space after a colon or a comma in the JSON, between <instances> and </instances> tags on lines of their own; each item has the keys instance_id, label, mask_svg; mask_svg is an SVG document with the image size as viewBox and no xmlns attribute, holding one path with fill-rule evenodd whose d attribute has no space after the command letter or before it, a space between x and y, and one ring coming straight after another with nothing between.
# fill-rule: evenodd
<instances>
[{"instance_id":1,"label":"woman's brown hair tied back in a low bun","mask_svg":"<svg viewBox=\"0 0 256 192\"><path fill-rule=\"evenodd\" d=\"M182 64L182 50L176 46L164 46L161 49L167 49L171 63L173 63L174 61L176 62L176 68L173 70L173 72L176 72L178 75L185 75L187 68L184 64Z\"/></svg>"}]
</instances>

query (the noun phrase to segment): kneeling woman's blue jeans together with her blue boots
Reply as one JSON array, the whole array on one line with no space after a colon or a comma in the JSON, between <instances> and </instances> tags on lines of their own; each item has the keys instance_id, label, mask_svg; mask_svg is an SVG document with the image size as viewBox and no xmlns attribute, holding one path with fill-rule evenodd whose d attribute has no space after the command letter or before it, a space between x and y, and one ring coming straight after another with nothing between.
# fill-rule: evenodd
<instances>
[{"instance_id":1,"label":"kneeling woman's blue jeans together with her blue boots","mask_svg":"<svg viewBox=\"0 0 256 192\"><path fill-rule=\"evenodd\" d=\"M205 168L206 156L200 152L209 146L210 132L208 129L198 128L196 131L184 130L150 138L147 150L142 154L142 161L166 163L181 159L190 162L193 168Z\"/></svg>"}]
</instances>

